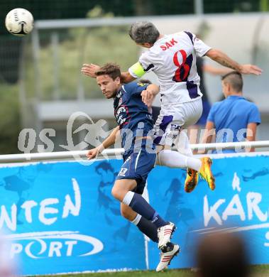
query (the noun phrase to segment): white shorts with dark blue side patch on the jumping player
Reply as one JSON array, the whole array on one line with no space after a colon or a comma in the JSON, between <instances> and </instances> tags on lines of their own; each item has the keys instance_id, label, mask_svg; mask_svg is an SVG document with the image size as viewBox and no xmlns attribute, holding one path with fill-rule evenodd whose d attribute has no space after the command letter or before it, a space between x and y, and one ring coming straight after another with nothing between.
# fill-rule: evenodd
<instances>
[{"instance_id":1,"label":"white shorts with dark blue side patch on the jumping player","mask_svg":"<svg viewBox=\"0 0 269 277\"><path fill-rule=\"evenodd\" d=\"M153 129L154 143L172 146L180 130L195 124L202 111L202 97L191 102L162 105Z\"/></svg>"}]
</instances>

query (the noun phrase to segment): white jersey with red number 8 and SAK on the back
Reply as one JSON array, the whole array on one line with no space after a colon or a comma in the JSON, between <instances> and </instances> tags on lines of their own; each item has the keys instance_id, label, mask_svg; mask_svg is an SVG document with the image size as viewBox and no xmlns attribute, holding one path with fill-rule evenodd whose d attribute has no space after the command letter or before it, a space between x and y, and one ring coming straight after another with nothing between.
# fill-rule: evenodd
<instances>
[{"instance_id":1,"label":"white jersey with red number 8 and SAK on the back","mask_svg":"<svg viewBox=\"0 0 269 277\"><path fill-rule=\"evenodd\" d=\"M190 102L202 97L199 90L196 55L202 57L211 48L194 34L182 31L157 40L139 58L143 72L136 66L129 68L133 77L153 71L160 82L162 104Z\"/></svg>"}]
</instances>

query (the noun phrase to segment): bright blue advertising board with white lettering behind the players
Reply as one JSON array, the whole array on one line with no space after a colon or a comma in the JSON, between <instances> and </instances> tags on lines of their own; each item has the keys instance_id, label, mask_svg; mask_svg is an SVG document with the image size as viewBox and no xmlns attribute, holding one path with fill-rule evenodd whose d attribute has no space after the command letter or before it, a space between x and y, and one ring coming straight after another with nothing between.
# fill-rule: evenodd
<instances>
[{"instance_id":1,"label":"bright blue advertising board with white lettering behind the players","mask_svg":"<svg viewBox=\"0 0 269 277\"><path fill-rule=\"evenodd\" d=\"M24 275L155 269L158 247L121 217L111 188L122 161L3 165L0 230ZM251 263L269 264L269 156L214 159L216 190L199 180L184 192L185 170L157 166L150 204L177 230L181 253L170 268L195 266L197 239L222 229L246 237Z\"/></svg>"}]
</instances>

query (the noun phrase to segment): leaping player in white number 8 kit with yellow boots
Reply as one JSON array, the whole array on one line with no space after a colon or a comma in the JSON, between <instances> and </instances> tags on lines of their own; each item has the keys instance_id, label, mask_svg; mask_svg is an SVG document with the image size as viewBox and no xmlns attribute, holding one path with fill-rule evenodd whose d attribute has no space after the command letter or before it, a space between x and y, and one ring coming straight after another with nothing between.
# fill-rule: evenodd
<instances>
[{"instance_id":1,"label":"leaping player in white number 8 kit with yellow boots","mask_svg":"<svg viewBox=\"0 0 269 277\"><path fill-rule=\"evenodd\" d=\"M255 65L239 65L220 50L210 48L193 33L182 31L171 35L162 35L148 21L133 23L129 35L148 50L141 55L138 63L128 72L121 73L122 82L131 82L153 71L160 83L161 109L155 124L154 142L160 146L159 165L172 168L187 168L185 191L191 192L197 185L198 176L207 180L209 188L214 190L214 176L211 171L212 160L208 157L194 158L189 146L187 134L182 129L195 124L202 114L202 93L199 90L199 75L196 68L196 55L215 60L242 74L260 75ZM83 65L85 75L96 77L97 65ZM153 95L143 94L143 101L149 104ZM181 131L181 132L180 132ZM172 143L177 151L171 151Z\"/></svg>"}]
</instances>

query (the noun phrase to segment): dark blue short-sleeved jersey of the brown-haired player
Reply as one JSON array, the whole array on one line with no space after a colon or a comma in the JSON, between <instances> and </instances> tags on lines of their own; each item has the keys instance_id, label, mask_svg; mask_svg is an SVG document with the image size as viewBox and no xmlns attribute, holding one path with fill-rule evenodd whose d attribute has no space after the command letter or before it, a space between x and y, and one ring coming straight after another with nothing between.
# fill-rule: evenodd
<instances>
[{"instance_id":1,"label":"dark blue short-sleeved jersey of the brown-haired player","mask_svg":"<svg viewBox=\"0 0 269 277\"><path fill-rule=\"evenodd\" d=\"M121 130L121 146L133 151L136 137L151 136L153 116L142 102L141 92L148 84L131 82L122 85L114 98L114 115Z\"/></svg>"}]
</instances>

